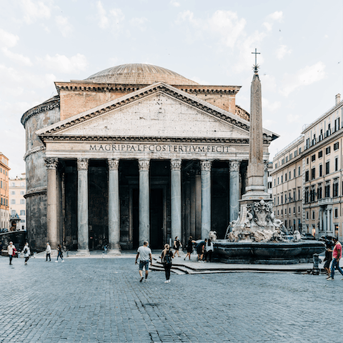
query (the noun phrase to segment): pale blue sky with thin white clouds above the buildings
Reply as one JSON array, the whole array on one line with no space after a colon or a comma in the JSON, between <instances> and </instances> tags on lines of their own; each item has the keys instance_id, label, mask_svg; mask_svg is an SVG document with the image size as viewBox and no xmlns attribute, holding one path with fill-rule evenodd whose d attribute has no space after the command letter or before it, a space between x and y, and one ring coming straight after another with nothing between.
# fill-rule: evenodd
<instances>
[{"instance_id":1,"label":"pale blue sky with thin white clouds above the buildings","mask_svg":"<svg viewBox=\"0 0 343 343\"><path fill-rule=\"evenodd\" d=\"M270 159L343 94L342 0L1 0L0 151L25 172L25 111L54 81L111 66L161 66L200 84L242 86L257 49Z\"/></svg>"}]
</instances>

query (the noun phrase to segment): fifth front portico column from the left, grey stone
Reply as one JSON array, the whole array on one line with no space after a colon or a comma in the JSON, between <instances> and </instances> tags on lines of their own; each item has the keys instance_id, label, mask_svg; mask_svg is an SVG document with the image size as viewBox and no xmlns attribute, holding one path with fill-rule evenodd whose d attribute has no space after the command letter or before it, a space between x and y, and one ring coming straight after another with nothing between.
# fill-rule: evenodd
<instances>
[{"instance_id":1,"label":"fifth front portico column from the left, grey stone","mask_svg":"<svg viewBox=\"0 0 343 343\"><path fill-rule=\"evenodd\" d=\"M172 240L177 236L182 239L181 165L181 159L172 159L170 161Z\"/></svg>"}]
</instances>

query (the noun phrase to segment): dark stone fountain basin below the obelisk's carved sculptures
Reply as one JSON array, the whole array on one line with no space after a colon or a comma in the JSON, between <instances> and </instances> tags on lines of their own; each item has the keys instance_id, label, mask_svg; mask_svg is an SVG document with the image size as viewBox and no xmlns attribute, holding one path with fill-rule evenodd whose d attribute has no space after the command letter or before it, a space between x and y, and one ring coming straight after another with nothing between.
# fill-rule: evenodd
<instances>
[{"instance_id":1,"label":"dark stone fountain basin below the obelisk's carved sculptures","mask_svg":"<svg viewBox=\"0 0 343 343\"><path fill-rule=\"evenodd\" d=\"M214 242L219 262L239 264L297 264L313 262L313 254L325 250L323 242Z\"/></svg>"}]
</instances>

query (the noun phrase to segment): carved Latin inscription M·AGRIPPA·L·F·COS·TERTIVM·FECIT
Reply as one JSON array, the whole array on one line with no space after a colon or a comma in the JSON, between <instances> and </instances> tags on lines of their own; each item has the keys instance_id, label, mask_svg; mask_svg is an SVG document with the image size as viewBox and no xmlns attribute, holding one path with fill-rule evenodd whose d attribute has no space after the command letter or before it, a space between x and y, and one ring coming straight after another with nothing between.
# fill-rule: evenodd
<instances>
[{"instance_id":1,"label":"carved Latin inscription M\u00b7AGRIPPA\u00b7L\u00b7F\u00b7COS\u00b7TERTIVM\u00b7FECIT","mask_svg":"<svg viewBox=\"0 0 343 343\"><path fill-rule=\"evenodd\" d=\"M173 144L91 144L90 151L141 151L141 152L229 152L226 145L173 145Z\"/></svg>"}]
</instances>

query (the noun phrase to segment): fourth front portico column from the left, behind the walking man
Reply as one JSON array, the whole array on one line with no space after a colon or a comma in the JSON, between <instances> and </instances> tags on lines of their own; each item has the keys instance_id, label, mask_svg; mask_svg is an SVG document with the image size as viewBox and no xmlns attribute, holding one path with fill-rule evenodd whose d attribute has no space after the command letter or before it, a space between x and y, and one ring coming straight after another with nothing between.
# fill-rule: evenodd
<instances>
[{"instance_id":1,"label":"fourth front portico column from the left, behind the walking man","mask_svg":"<svg viewBox=\"0 0 343 343\"><path fill-rule=\"evenodd\" d=\"M139 168L139 245L150 239L149 164L140 159Z\"/></svg>"}]
</instances>

